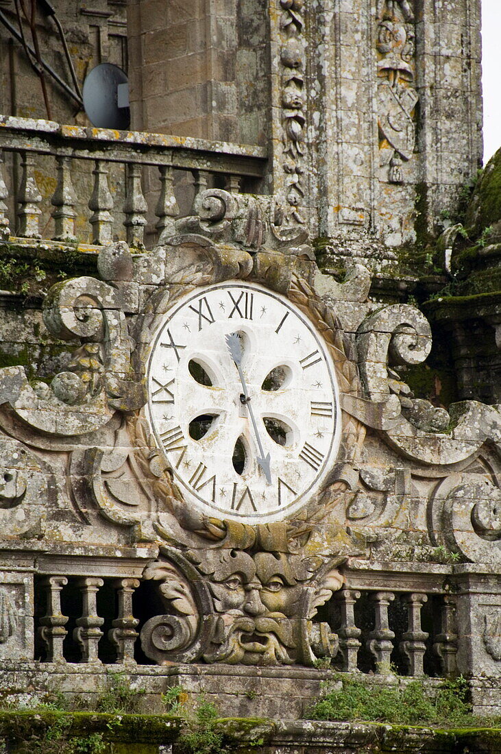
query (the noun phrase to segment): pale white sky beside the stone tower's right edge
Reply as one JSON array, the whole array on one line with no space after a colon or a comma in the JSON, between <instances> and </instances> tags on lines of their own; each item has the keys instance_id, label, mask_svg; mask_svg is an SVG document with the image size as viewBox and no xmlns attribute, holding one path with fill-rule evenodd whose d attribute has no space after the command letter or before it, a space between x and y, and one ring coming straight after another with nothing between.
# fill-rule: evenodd
<instances>
[{"instance_id":1,"label":"pale white sky beside the stone tower's right edge","mask_svg":"<svg viewBox=\"0 0 501 754\"><path fill-rule=\"evenodd\" d=\"M485 164L501 146L501 0L481 2Z\"/></svg>"}]
</instances>

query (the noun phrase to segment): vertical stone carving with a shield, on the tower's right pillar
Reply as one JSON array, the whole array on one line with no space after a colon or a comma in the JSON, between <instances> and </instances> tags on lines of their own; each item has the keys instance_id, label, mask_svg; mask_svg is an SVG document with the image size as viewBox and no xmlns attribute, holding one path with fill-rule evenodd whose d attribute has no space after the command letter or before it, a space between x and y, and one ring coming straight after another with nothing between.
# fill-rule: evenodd
<instances>
[{"instance_id":1,"label":"vertical stone carving with a shield, on the tower's right pillar","mask_svg":"<svg viewBox=\"0 0 501 754\"><path fill-rule=\"evenodd\" d=\"M414 152L414 12L408 0L379 0L376 48L380 162L390 183L402 183L402 162Z\"/></svg>"}]
</instances>

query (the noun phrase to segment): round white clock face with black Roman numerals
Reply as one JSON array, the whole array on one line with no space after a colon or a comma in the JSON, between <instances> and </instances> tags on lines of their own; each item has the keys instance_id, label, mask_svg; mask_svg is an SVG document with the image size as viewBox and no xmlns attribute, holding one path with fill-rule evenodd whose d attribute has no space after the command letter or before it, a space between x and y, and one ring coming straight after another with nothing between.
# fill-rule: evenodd
<instances>
[{"instance_id":1,"label":"round white clock face with black Roman numerals","mask_svg":"<svg viewBox=\"0 0 501 754\"><path fill-rule=\"evenodd\" d=\"M163 317L148 360L148 418L187 505L280 520L338 453L335 368L288 299L258 284L192 291Z\"/></svg>"}]
</instances>

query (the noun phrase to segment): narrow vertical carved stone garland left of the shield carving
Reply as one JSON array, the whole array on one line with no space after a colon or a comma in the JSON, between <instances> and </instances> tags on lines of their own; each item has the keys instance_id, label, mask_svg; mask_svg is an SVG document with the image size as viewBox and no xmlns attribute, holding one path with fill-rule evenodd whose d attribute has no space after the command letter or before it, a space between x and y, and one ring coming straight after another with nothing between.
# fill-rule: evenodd
<instances>
[{"instance_id":1,"label":"narrow vertical carved stone garland left of the shield carving","mask_svg":"<svg viewBox=\"0 0 501 754\"><path fill-rule=\"evenodd\" d=\"M301 207L306 193L304 130L306 127L304 77L304 0L280 0L280 73L282 77L283 169L289 222L304 225Z\"/></svg>"}]
</instances>

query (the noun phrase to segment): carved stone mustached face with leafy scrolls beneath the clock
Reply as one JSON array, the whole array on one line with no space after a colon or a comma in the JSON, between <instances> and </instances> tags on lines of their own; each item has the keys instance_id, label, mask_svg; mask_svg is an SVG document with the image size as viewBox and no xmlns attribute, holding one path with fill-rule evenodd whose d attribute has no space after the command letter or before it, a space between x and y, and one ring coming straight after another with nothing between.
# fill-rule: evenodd
<instances>
[{"instance_id":1,"label":"carved stone mustached face with leafy scrolls beneath the clock","mask_svg":"<svg viewBox=\"0 0 501 754\"><path fill-rule=\"evenodd\" d=\"M263 526L246 550L162 552L144 578L159 581L168 612L141 632L145 654L157 663L311 665L338 651L337 637L313 618L341 588L342 558L289 551L283 526Z\"/></svg>"}]
</instances>

